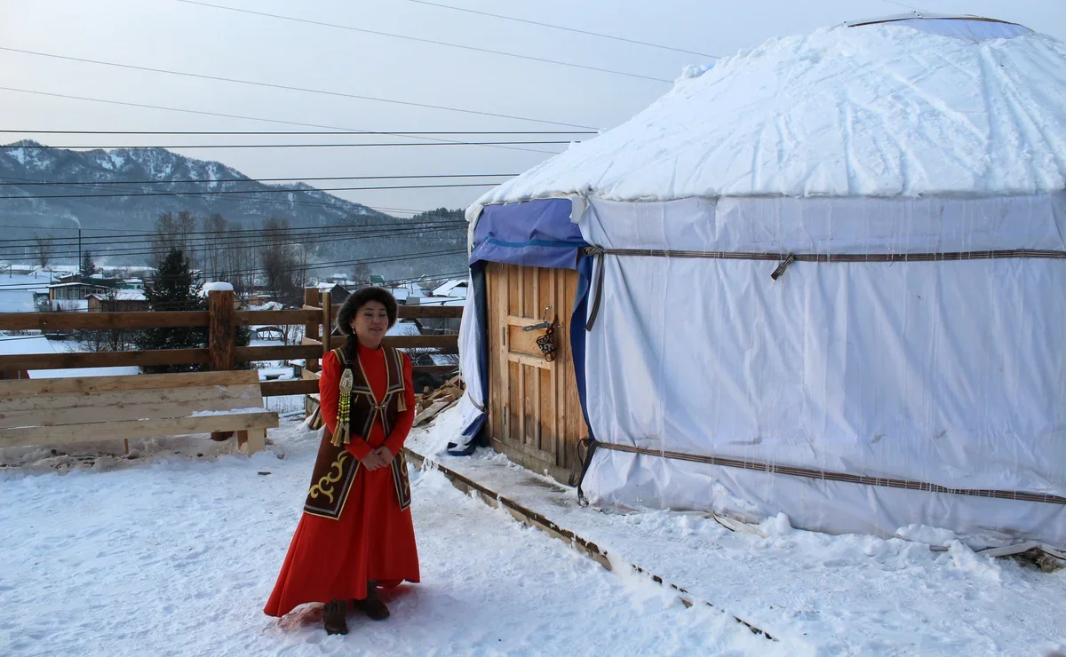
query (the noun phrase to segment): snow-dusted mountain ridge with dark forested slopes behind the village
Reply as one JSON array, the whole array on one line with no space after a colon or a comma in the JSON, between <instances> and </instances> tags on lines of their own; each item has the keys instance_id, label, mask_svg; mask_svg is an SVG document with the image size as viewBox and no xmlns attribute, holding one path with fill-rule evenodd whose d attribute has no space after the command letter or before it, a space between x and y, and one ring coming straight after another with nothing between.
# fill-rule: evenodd
<instances>
[{"instance_id":1,"label":"snow-dusted mountain ridge with dark forested slopes behind the village","mask_svg":"<svg viewBox=\"0 0 1066 657\"><path fill-rule=\"evenodd\" d=\"M208 182L175 182L204 180ZM148 182L151 181L151 182ZM222 182L229 181L229 182ZM33 184L48 182L53 184ZM71 183L107 183L85 185ZM270 217L284 218L291 228L323 228L327 231L366 227L357 242L339 237L313 245L318 262L356 259L390 259L371 265L385 276L414 276L420 273L451 273L463 268L465 256L448 254L420 260L398 260L404 256L440 250L459 250L466 244L465 228L458 225L458 211L435 211L432 216L394 217L304 183L271 185L254 181L241 171L220 162L187 158L164 148L76 151L43 147L33 141L0 146L0 226L7 239L54 239L76 236L77 221L84 235L104 235L115 231L113 244L95 242L96 257L124 248L140 237L119 237L124 232L151 233L156 220L165 213L188 212L198 220L212 214L225 217L230 227L256 229ZM307 190L271 194L162 195L174 192L266 192ZM71 195L109 195L104 198L30 198L69 197ZM124 195L130 196L111 196ZM144 196L146 194L155 194ZM443 214L441 214L443 212ZM76 221L77 220L77 221ZM430 221L431 224L427 224ZM445 226L441 226L445 221ZM392 236L374 237L373 231L388 226ZM392 227L403 229L397 233ZM452 228L454 226L454 228ZM443 228L443 229L442 229ZM312 234L314 231L303 231ZM339 232L351 235L353 231ZM399 234L399 236L397 236ZM310 247L309 247L310 248ZM0 260L26 253L0 249ZM64 261L68 259L62 259ZM69 259L74 261L74 259ZM112 262L147 262L148 257L115 254ZM345 266L327 265L336 272Z\"/></svg>"}]
</instances>

